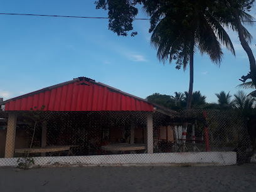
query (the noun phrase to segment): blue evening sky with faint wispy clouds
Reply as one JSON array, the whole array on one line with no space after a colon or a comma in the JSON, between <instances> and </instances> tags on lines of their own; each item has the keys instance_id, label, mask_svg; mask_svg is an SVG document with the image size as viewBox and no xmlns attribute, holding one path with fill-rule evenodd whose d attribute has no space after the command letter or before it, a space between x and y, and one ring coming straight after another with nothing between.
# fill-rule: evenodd
<instances>
[{"instance_id":1,"label":"blue evening sky with faint wispy clouds","mask_svg":"<svg viewBox=\"0 0 256 192\"><path fill-rule=\"evenodd\" d=\"M1 0L0 13L107 17L95 0ZM250 12L256 17L256 4ZM137 18L147 18L141 10ZM255 23L256 24L256 23ZM256 25L247 26L256 39ZM189 69L159 62L150 45L149 21L134 21L135 37L117 36L108 19L50 18L0 15L0 97L4 100L88 77L123 92L146 98L152 93L174 95L188 91ZM237 33L228 31L236 56L223 48L218 67L207 55L195 53L194 91L216 102L215 93L232 95L238 80L249 72L248 57ZM256 40L250 45L255 55ZM245 90L249 93L252 90Z\"/></svg>"}]
</instances>

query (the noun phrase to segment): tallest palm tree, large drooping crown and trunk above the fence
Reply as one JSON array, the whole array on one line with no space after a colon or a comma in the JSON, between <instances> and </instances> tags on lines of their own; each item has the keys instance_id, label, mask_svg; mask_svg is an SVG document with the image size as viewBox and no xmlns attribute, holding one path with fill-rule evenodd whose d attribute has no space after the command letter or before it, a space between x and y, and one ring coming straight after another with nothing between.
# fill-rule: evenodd
<instances>
[{"instance_id":1,"label":"tallest palm tree, large drooping crown and trunk above the fence","mask_svg":"<svg viewBox=\"0 0 256 192\"><path fill-rule=\"evenodd\" d=\"M160 61L176 60L177 67L185 70L189 61L189 91L187 109L191 108L193 93L194 53L199 50L220 65L220 42L235 54L225 29L208 11L213 1L157 1L145 3L151 16L151 43L157 49ZM163 17L163 18L161 18ZM161 19L159 19L161 18Z\"/></svg>"}]
</instances>

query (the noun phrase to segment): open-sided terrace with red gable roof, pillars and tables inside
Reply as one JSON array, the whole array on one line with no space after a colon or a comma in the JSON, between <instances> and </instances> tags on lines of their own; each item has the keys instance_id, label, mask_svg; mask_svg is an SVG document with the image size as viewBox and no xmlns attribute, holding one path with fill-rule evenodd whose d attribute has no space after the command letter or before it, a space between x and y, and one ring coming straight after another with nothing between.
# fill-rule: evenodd
<instances>
[{"instance_id":1,"label":"open-sided terrace with red gable roof, pillars and tables inside","mask_svg":"<svg viewBox=\"0 0 256 192\"><path fill-rule=\"evenodd\" d=\"M40 156L152 154L156 127L176 114L86 77L27 93L0 105L8 112L5 158L24 152ZM23 124L17 125L17 121ZM26 144L15 143L18 129L26 130L22 135Z\"/></svg>"}]
</instances>

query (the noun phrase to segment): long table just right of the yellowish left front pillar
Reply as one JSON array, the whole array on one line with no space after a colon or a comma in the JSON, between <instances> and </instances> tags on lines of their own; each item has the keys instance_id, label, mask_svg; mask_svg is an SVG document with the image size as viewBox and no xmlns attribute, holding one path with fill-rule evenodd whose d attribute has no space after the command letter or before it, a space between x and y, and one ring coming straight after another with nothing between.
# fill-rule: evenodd
<instances>
[{"instance_id":1,"label":"long table just right of the yellowish left front pillar","mask_svg":"<svg viewBox=\"0 0 256 192\"><path fill-rule=\"evenodd\" d=\"M41 152L58 152L59 151L59 156L61 151L68 151L68 155L73 155L72 149L73 147L79 147L78 145L75 146L46 146L45 148L42 147L35 147L35 148L23 148L23 149L14 149L14 152L18 153L41 153Z\"/></svg>"}]
</instances>

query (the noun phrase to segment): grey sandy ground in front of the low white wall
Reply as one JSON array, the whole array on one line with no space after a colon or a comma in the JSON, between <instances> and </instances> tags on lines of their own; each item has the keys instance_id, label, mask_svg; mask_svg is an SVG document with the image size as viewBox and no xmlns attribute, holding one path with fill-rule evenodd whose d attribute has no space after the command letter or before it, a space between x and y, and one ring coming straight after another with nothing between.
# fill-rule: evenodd
<instances>
[{"instance_id":1,"label":"grey sandy ground in front of the low white wall","mask_svg":"<svg viewBox=\"0 0 256 192\"><path fill-rule=\"evenodd\" d=\"M256 164L0 168L0 191L256 191Z\"/></svg>"}]
</instances>

